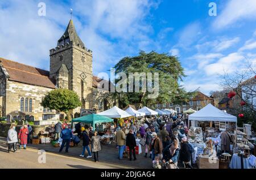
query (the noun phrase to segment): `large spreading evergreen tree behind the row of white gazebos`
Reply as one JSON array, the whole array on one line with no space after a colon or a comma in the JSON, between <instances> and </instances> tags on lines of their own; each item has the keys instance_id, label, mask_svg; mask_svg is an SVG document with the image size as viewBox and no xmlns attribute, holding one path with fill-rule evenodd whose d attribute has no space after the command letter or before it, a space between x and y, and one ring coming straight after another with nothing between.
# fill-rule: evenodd
<instances>
[{"instance_id":1,"label":"large spreading evergreen tree behind the row of white gazebos","mask_svg":"<svg viewBox=\"0 0 256 180\"><path fill-rule=\"evenodd\" d=\"M141 51L138 56L122 58L114 66L115 73L124 72L129 76L130 72L154 72L159 73L159 96L148 98L149 92L142 92L141 88L136 93L116 93L119 99L119 106L123 108L128 104L142 103L142 105L153 105L156 103L173 102L181 104L188 101L193 93L185 92L179 85L179 81L185 76L184 68L181 66L179 58L168 54L159 54L154 51L146 53ZM154 78L152 78L154 80ZM116 79L116 82L119 79ZM154 82L153 82L154 83ZM139 84L142 87L142 84ZM128 89L128 87L127 87Z\"/></svg>"}]
</instances>

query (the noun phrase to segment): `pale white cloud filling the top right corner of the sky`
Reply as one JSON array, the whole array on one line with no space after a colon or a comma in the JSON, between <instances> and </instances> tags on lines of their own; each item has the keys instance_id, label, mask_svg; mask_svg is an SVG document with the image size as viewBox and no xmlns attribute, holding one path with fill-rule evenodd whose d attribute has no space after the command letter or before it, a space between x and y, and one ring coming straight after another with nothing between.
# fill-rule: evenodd
<instances>
[{"instance_id":1,"label":"pale white cloud filling the top right corner of the sky","mask_svg":"<svg viewBox=\"0 0 256 180\"><path fill-rule=\"evenodd\" d=\"M230 27L230 25L243 19L254 19L256 17L255 0L230 0L220 15L214 20L212 26L215 29Z\"/></svg>"}]
</instances>

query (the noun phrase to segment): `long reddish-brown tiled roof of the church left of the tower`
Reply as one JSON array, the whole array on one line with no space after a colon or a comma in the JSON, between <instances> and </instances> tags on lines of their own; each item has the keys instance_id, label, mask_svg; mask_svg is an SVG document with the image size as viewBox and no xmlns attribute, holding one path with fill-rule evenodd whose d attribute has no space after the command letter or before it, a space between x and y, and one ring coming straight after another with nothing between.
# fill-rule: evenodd
<instances>
[{"instance_id":1,"label":"long reddish-brown tiled roof of the church left of the tower","mask_svg":"<svg viewBox=\"0 0 256 180\"><path fill-rule=\"evenodd\" d=\"M3 58L0 58L0 61L1 66L6 68L9 74L9 80L47 88L56 88L55 79L49 78L49 71Z\"/></svg>"}]
</instances>

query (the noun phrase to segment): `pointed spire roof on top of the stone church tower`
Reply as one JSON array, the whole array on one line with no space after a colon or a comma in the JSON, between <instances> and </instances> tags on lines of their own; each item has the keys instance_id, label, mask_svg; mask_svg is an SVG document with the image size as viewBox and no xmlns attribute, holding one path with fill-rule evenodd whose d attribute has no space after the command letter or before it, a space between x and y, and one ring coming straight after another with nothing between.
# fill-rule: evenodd
<instances>
[{"instance_id":1,"label":"pointed spire roof on top of the stone church tower","mask_svg":"<svg viewBox=\"0 0 256 180\"><path fill-rule=\"evenodd\" d=\"M68 23L68 27L64 32L63 36L60 37L57 46L64 45L67 42L75 42L76 45L79 44L82 48L85 47L84 42L80 39L80 37L76 33L75 25L73 24L73 20L71 19Z\"/></svg>"}]
</instances>

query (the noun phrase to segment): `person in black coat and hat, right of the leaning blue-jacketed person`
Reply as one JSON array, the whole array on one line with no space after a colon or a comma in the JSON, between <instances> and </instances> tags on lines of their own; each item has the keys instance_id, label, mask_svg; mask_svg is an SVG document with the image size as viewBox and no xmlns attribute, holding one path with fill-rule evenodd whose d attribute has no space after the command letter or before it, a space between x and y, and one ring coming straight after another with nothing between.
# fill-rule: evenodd
<instances>
[{"instance_id":1,"label":"person in black coat and hat, right of the leaning blue-jacketed person","mask_svg":"<svg viewBox=\"0 0 256 180\"><path fill-rule=\"evenodd\" d=\"M188 139L186 137L181 138L180 148L180 161L184 162L185 168L191 168L191 152L189 151Z\"/></svg>"}]
</instances>

